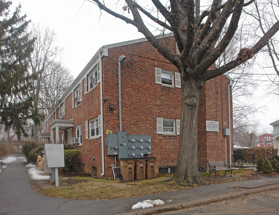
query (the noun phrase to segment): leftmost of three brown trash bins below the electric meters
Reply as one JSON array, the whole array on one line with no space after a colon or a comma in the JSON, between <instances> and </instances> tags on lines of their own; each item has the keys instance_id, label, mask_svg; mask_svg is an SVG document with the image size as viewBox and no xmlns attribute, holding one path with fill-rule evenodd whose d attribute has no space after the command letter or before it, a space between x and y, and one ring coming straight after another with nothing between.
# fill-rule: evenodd
<instances>
[{"instance_id":1,"label":"leftmost of three brown trash bins below the electric meters","mask_svg":"<svg viewBox=\"0 0 279 215\"><path fill-rule=\"evenodd\" d=\"M119 162L120 173L123 177L123 181L133 181L135 160L133 158L120 158Z\"/></svg>"}]
</instances>

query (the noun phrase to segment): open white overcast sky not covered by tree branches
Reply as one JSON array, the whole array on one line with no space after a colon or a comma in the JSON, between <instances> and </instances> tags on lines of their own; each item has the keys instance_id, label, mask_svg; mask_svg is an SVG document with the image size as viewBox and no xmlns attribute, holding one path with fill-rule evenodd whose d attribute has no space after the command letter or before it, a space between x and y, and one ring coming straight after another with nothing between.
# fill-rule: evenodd
<instances>
[{"instance_id":1,"label":"open white overcast sky not covered by tree branches","mask_svg":"<svg viewBox=\"0 0 279 215\"><path fill-rule=\"evenodd\" d=\"M64 47L63 59L74 77L103 45L142 38L143 35L131 24L111 17L83 0L11 0L13 7L22 5L22 13L32 23L54 29L59 43ZM12 9L13 11L13 9ZM260 90L259 95L264 92ZM255 98L257 106L264 107L259 114L261 125L272 129L270 123L279 119L278 97Z\"/></svg>"}]
</instances>

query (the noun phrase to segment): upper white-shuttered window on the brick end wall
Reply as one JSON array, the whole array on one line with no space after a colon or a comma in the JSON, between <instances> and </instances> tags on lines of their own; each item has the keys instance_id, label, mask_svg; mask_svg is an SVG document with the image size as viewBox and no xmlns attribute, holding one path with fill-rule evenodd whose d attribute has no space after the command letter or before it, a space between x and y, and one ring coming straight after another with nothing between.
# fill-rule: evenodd
<instances>
[{"instance_id":1,"label":"upper white-shuttered window on the brick end wall","mask_svg":"<svg viewBox=\"0 0 279 215\"><path fill-rule=\"evenodd\" d=\"M155 68L155 83L164 86L181 88L180 73Z\"/></svg>"}]
</instances>

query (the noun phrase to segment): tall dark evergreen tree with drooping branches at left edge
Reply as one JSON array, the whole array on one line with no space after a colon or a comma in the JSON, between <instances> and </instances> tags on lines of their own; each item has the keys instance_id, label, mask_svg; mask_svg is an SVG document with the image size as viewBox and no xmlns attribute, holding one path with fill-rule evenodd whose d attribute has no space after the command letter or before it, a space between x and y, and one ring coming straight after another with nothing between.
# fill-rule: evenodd
<instances>
[{"instance_id":1,"label":"tall dark evergreen tree with drooping branches at left edge","mask_svg":"<svg viewBox=\"0 0 279 215\"><path fill-rule=\"evenodd\" d=\"M11 4L0 0L0 124L5 130L13 128L20 139L27 136L27 119L39 120L37 111L31 111L32 77L27 73L34 39L26 32L30 21L26 15L20 16L21 5L10 14Z\"/></svg>"}]
</instances>

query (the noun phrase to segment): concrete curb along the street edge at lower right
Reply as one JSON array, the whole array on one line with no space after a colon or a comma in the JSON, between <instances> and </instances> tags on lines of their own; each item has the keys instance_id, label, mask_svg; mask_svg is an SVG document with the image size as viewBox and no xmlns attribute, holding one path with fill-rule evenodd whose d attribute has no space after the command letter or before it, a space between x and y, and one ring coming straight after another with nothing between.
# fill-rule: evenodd
<instances>
[{"instance_id":1,"label":"concrete curb along the street edge at lower right","mask_svg":"<svg viewBox=\"0 0 279 215\"><path fill-rule=\"evenodd\" d=\"M225 194L221 194L221 195L217 195L217 196L213 196L210 198L204 198L204 199L200 199L200 200L194 200L194 201L190 201L184 204L179 204L179 205L173 205L173 206L168 206L168 207L164 207L164 206L159 206L160 208L152 208L150 210L149 209L144 209L141 211L131 211L128 213L122 213L122 214L115 214L115 215L151 215L151 214L159 214L162 212L167 212L167 211L175 211L175 210L180 210L183 208L188 208L188 207L192 207L195 205L201 205L201 204L205 204L205 203L210 203L210 202L216 202L216 201L222 201L224 199L231 199L233 197L237 197L237 196L242 196L242 195L246 195L246 194L251 194L251 193L258 193L260 191L265 191L265 190L270 190L270 189L275 189L279 187L279 183L276 184L272 184L272 185L263 185L257 188L248 188L248 190L244 190L244 191L239 191L239 192L232 192L232 193L225 193Z\"/></svg>"}]
</instances>

